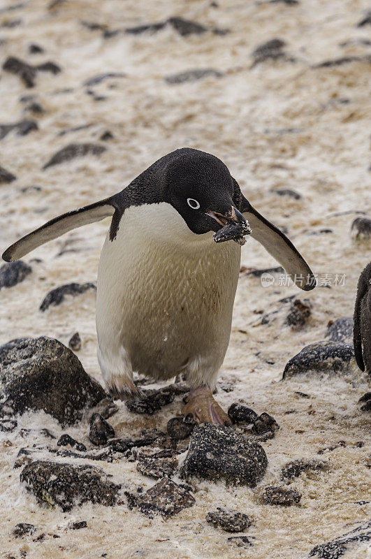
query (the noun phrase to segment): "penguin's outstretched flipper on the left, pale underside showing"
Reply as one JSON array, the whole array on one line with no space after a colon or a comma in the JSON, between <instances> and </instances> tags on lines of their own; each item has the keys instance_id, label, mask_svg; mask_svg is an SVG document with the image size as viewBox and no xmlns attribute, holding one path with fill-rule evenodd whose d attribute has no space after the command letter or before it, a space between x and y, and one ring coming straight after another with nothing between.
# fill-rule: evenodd
<instances>
[{"instance_id":1,"label":"penguin's outstretched flipper on the left, pale underside showing","mask_svg":"<svg viewBox=\"0 0 371 559\"><path fill-rule=\"evenodd\" d=\"M114 212L115 206L112 205L111 198L106 198L106 200L85 205L83 208L54 217L50 222L45 223L8 247L3 253L3 259L7 262L18 260L45 242L56 239L71 231L71 229L99 222L105 217L112 216Z\"/></svg>"}]
</instances>

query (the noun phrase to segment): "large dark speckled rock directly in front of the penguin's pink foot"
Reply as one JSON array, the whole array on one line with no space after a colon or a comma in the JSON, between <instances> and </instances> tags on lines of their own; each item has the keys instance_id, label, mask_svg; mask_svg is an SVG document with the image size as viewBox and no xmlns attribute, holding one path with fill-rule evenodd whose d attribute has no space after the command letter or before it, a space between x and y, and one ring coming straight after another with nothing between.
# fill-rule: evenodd
<instances>
[{"instance_id":1,"label":"large dark speckled rock directly in front of the penguin's pink foot","mask_svg":"<svg viewBox=\"0 0 371 559\"><path fill-rule=\"evenodd\" d=\"M254 487L263 477L267 464L259 444L234 433L231 428L201 423L191 435L180 474L187 480L196 476Z\"/></svg>"}]
</instances>

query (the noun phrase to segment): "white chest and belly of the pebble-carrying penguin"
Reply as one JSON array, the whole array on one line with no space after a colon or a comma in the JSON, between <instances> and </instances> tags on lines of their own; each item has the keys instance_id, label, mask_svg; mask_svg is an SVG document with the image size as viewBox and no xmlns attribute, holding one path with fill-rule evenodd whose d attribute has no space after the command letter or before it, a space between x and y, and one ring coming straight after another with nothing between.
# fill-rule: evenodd
<instances>
[{"instance_id":1,"label":"white chest and belly of the pebble-carrying penguin","mask_svg":"<svg viewBox=\"0 0 371 559\"><path fill-rule=\"evenodd\" d=\"M133 370L153 377L171 377L201 359L218 369L239 268L239 245L192 233L171 205L125 210L99 262L101 366L105 359L114 366L112 354L121 354Z\"/></svg>"}]
</instances>

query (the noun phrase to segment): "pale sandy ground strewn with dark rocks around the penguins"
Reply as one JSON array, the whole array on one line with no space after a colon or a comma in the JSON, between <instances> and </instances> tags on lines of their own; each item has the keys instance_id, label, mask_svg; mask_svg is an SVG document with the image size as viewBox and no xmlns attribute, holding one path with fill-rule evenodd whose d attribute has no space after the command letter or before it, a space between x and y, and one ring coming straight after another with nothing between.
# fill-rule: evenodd
<instances>
[{"instance_id":1,"label":"pale sandy ground strewn with dark rocks around the penguins","mask_svg":"<svg viewBox=\"0 0 371 559\"><path fill-rule=\"evenodd\" d=\"M1 248L191 146L227 164L319 282L299 293L254 240L242 249L216 395L228 429L183 421L182 379L138 378L127 405L101 388L107 220L4 264L1 558L370 555L370 379L351 344L371 258L369 9L0 4Z\"/></svg>"}]
</instances>

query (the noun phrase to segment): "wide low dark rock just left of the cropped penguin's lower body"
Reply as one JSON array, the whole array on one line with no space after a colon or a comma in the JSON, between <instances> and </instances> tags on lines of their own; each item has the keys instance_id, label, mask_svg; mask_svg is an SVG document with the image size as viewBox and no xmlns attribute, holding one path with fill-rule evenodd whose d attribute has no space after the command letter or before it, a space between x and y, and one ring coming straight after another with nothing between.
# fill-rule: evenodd
<instances>
[{"instance_id":1,"label":"wide low dark rock just left of the cropped penguin's lower body","mask_svg":"<svg viewBox=\"0 0 371 559\"><path fill-rule=\"evenodd\" d=\"M309 371L341 372L349 368L354 349L342 342L316 342L293 356L284 368L283 379Z\"/></svg>"}]
</instances>

